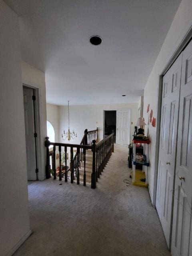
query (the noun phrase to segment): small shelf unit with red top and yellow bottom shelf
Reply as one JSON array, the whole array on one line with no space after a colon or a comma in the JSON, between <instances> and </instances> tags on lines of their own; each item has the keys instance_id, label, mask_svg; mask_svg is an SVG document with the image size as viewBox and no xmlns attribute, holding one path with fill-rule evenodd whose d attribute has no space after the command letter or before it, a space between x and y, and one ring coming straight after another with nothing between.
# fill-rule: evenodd
<instances>
[{"instance_id":1,"label":"small shelf unit with red top and yellow bottom shelf","mask_svg":"<svg viewBox=\"0 0 192 256\"><path fill-rule=\"evenodd\" d=\"M143 158L142 162L136 161L136 144L143 145ZM133 140L133 162L132 162L132 183L136 186L148 186L148 169L149 169L149 150L150 150L150 140ZM136 164L142 164L142 171L136 170ZM143 175L142 175L143 174ZM140 178L145 174L145 182L140 181Z\"/></svg>"}]
</instances>

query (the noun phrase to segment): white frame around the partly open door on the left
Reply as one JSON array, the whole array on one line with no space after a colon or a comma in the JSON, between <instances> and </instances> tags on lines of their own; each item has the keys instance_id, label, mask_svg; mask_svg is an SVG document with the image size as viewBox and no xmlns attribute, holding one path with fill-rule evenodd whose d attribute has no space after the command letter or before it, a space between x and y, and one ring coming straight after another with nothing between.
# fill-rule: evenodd
<instances>
[{"instance_id":1,"label":"white frame around the partly open door on the left","mask_svg":"<svg viewBox=\"0 0 192 256\"><path fill-rule=\"evenodd\" d=\"M36 138L36 150L37 150L37 168L38 171L42 170L42 160L41 160L41 130L40 130L40 92L39 88L36 88L34 86L31 86L29 84L23 83L23 86L31 88L34 90L34 95L36 97L36 100L34 102L35 106L35 121L36 121L36 133L37 133L37 138ZM37 177L39 180L39 172L37 174Z\"/></svg>"}]
</instances>

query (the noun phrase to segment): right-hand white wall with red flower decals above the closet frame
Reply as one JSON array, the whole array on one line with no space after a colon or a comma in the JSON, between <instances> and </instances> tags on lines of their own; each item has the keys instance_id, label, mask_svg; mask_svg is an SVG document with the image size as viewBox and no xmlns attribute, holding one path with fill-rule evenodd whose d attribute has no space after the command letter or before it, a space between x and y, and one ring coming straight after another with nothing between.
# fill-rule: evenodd
<instances>
[{"instance_id":1,"label":"right-hand white wall with red flower decals above the closet frame","mask_svg":"<svg viewBox=\"0 0 192 256\"><path fill-rule=\"evenodd\" d=\"M145 131L151 140L149 192L153 204L155 202L154 195L156 193L156 177L158 172L154 167L156 128L152 127L149 122L148 116L150 111L147 113L146 110L148 104L150 104L150 110L153 110L153 116L156 117L158 102L158 76L166 66L173 49L176 49L180 44L183 33L187 28L189 28L190 24L192 24L192 0L182 0L144 89L144 118L148 124Z\"/></svg>"}]
</instances>

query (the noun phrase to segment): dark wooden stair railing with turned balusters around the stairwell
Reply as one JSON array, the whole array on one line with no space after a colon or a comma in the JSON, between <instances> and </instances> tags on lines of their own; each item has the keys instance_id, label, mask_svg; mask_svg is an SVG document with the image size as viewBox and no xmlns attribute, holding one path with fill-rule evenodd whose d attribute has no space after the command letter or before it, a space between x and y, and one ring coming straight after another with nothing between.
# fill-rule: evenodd
<instances>
[{"instance_id":1,"label":"dark wooden stair railing with turned balusters around the stairwell","mask_svg":"<svg viewBox=\"0 0 192 256\"><path fill-rule=\"evenodd\" d=\"M92 173L91 175L91 188L96 188L96 182L103 172L112 152L114 152L113 142L114 132L98 142L98 128L96 130L84 131L84 136L80 144L68 144L50 142L49 137L46 137L46 178L50 178L50 152L49 146L53 146L52 151L52 169L54 180L56 179L56 146L59 150L59 180L62 180L62 166L61 166L61 149L64 148L65 154L65 170L64 178L65 182L68 181L68 169L67 169L67 148L70 148L70 180L74 183L76 178L77 184L80 184L80 168L83 163L83 185L86 186L86 151L92 151ZM73 152L76 150L76 154L73 157ZM88 153L88 152L87 152ZM90 154L88 154L90 156Z\"/></svg>"}]
</instances>

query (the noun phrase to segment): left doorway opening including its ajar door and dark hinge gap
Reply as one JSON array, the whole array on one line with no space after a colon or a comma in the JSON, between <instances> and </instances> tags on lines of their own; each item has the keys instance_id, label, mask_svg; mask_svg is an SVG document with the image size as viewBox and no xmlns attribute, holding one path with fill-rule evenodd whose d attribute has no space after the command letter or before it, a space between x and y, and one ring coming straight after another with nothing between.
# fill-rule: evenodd
<instances>
[{"instance_id":1,"label":"left doorway opening including its ajar door and dark hinge gap","mask_svg":"<svg viewBox=\"0 0 192 256\"><path fill-rule=\"evenodd\" d=\"M38 180L38 140L36 89L23 85L27 178Z\"/></svg>"}]
</instances>

